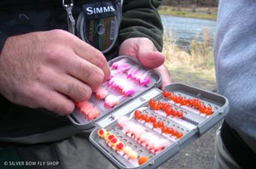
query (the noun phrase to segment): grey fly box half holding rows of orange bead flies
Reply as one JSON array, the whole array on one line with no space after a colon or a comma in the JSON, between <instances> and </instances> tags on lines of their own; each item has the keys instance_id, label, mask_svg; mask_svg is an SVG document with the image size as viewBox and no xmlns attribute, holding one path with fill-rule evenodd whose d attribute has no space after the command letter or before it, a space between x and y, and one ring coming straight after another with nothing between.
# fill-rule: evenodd
<instances>
[{"instance_id":1,"label":"grey fly box half holding rows of orange bead flies","mask_svg":"<svg viewBox=\"0 0 256 169\"><path fill-rule=\"evenodd\" d=\"M216 93L181 83L153 87L97 121L90 142L117 168L156 168L229 110Z\"/></svg>"}]
</instances>

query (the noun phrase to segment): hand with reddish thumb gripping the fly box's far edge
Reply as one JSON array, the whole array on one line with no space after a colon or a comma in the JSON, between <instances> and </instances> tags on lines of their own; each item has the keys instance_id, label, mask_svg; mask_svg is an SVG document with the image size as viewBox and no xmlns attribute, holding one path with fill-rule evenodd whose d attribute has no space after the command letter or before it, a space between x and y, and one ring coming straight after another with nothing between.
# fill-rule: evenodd
<instances>
[{"instance_id":1,"label":"hand with reddish thumb gripping the fly box's far edge","mask_svg":"<svg viewBox=\"0 0 256 169\"><path fill-rule=\"evenodd\" d=\"M161 88L172 83L168 70L164 65L164 54L157 51L154 43L145 37L126 39L119 48L119 55L137 58L145 67L157 70L162 76Z\"/></svg>"}]
</instances>

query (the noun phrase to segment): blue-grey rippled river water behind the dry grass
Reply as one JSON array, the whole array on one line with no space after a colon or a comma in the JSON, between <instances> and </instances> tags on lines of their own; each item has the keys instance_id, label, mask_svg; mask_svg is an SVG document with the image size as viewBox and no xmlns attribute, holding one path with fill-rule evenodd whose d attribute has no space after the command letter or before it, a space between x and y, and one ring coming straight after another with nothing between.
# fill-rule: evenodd
<instances>
[{"instance_id":1,"label":"blue-grey rippled river water behind the dry grass","mask_svg":"<svg viewBox=\"0 0 256 169\"><path fill-rule=\"evenodd\" d=\"M161 15L161 19L166 33L172 32L172 37L176 40L178 47L189 50L190 44L195 37L198 41L203 40L203 29L207 27L210 45L213 45L215 20L199 20L193 18L181 18L170 15Z\"/></svg>"}]
</instances>

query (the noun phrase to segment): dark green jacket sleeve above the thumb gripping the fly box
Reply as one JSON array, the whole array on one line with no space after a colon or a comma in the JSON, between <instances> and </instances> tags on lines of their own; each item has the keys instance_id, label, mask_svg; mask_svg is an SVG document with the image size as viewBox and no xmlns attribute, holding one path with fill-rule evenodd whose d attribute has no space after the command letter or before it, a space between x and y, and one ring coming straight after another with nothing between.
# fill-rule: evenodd
<instances>
[{"instance_id":1,"label":"dark green jacket sleeve above the thumb gripping the fly box","mask_svg":"<svg viewBox=\"0 0 256 169\"><path fill-rule=\"evenodd\" d=\"M163 26L157 8L158 0L127 0L123 4L123 19L119 30L120 42L130 37L148 37L161 51Z\"/></svg>"}]
</instances>

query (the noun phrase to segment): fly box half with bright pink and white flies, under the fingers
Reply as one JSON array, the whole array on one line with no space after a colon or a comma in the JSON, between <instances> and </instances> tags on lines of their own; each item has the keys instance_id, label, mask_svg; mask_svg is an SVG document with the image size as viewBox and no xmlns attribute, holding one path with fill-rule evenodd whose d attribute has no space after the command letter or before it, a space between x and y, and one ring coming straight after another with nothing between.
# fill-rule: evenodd
<instances>
[{"instance_id":1,"label":"fly box half with bright pink and white flies, under the fingers","mask_svg":"<svg viewBox=\"0 0 256 169\"><path fill-rule=\"evenodd\" d=\"M76 109L68 116L77 127L90 130L96 121L112 115L114 110L149 89L160 86L160 74L143 67L137 59L119 56L108 61L108 65L108 81L93 91L88 101L76 104Z\"/></svg>"}]
</instances>

